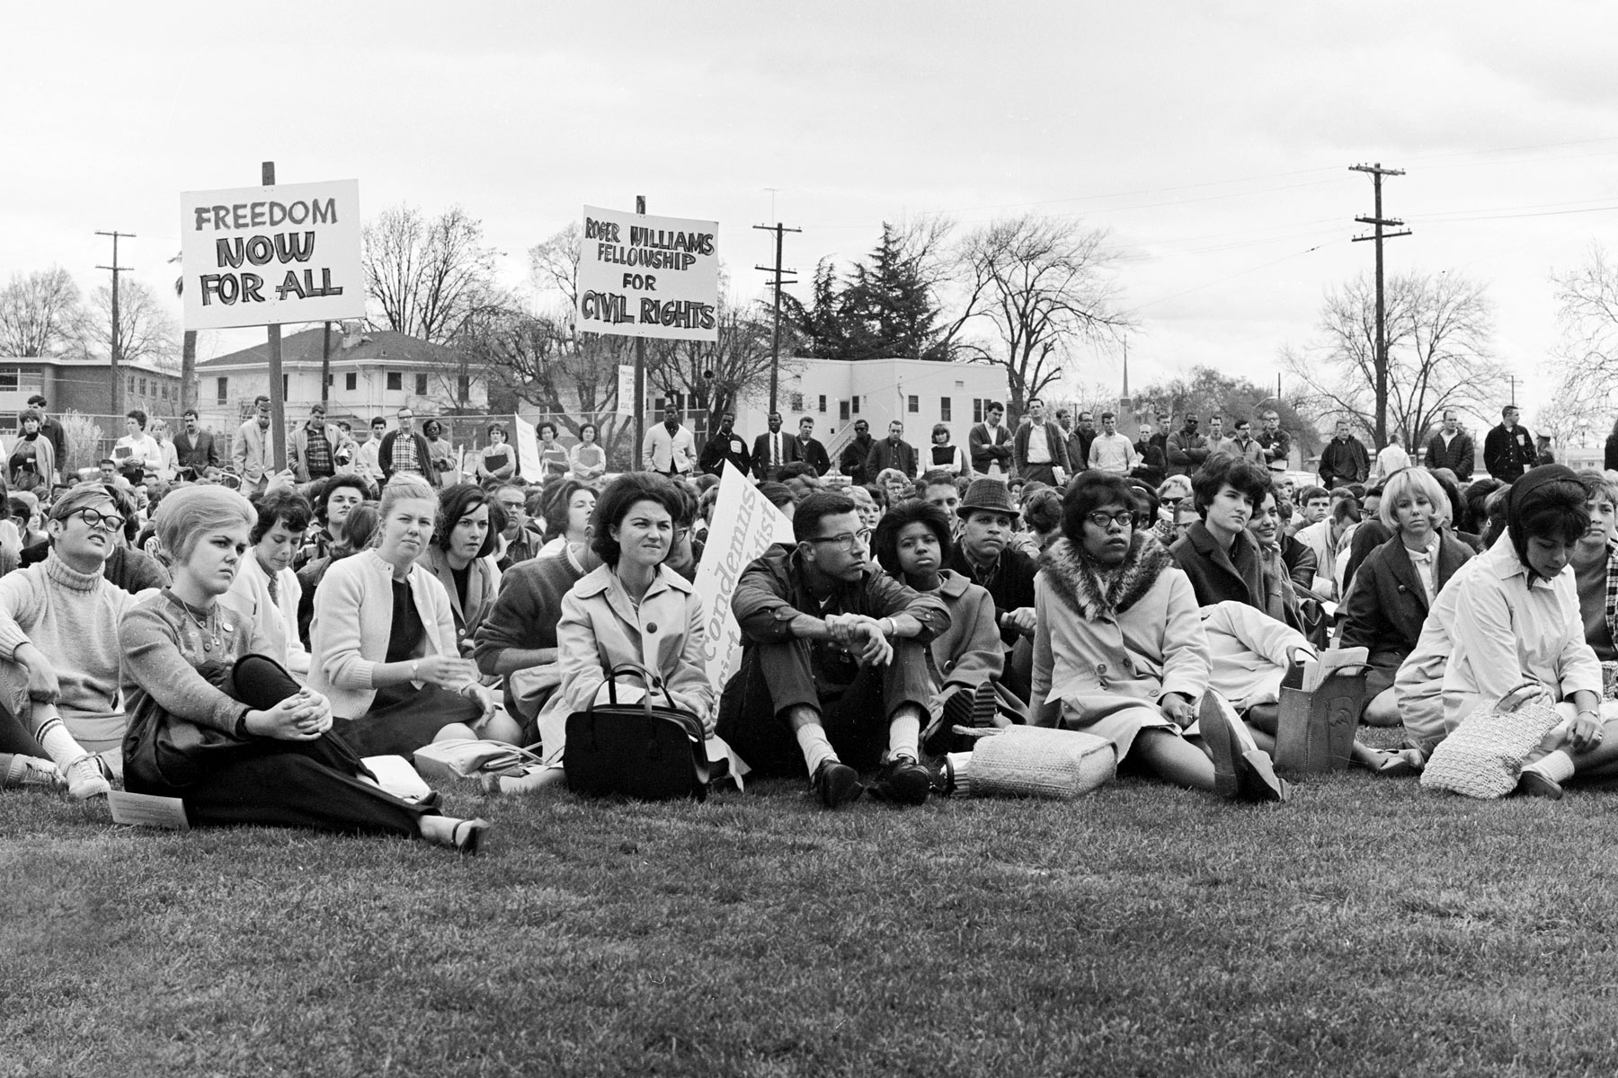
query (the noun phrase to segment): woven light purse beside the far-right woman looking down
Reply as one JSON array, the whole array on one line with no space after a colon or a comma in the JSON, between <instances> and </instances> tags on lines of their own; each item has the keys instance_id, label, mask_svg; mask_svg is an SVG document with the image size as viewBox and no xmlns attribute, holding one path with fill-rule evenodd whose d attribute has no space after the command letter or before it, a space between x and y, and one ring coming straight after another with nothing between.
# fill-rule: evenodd
<instances>
[{"instance_id":1,"label":"woven light purse beside the far-right woman looking down","mask_svg":"<svg viewBox=\"0 0 1618 1078\"><path fill-rule=\"evenodd\" d=\"M1466 797L1505 797L1516 789L1523 763L1558 722L1550 693L1539 685L1516 688L1461 719L1432 750L1421 784Z\"/></svg>"}]
</instances>

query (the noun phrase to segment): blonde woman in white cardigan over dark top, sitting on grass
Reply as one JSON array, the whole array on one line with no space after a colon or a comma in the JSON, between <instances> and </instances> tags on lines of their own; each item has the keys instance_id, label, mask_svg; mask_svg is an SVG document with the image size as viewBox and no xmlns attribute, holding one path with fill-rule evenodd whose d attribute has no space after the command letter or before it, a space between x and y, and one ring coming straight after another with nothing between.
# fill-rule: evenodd
<instances>
[{"instance_id":1,"label":"blonde woman in white cardigan over dark top, sitting on grass","mask_svg":"<svg viewBox=\"0 0 1618 1078\"><path fill-rule=\"evenodd\" d=\"M432 486L395 477L377 546L335 562L316 593L309 687L332 701L337 729L362 756L408 756L443 737L516 737L460 655L448 593L416 564L437 514Z\"/></svg>"}]
</instances>

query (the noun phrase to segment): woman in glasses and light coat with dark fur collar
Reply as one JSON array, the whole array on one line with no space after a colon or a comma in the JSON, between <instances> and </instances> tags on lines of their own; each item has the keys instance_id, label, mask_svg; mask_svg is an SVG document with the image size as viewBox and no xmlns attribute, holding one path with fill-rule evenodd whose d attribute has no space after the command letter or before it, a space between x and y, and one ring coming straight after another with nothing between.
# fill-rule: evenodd
<instances>
[{"instance_id":1,"label":"woman in glasses and light coat with dark fur collar","mask_svg":"<svg viewBox=\"0 0 1618 1078\"><path fill-rule=\"evenodd\" d=\"M1120 761L1133 755L1176 785L1283 800L1269 756L1241 742L1217 705L1201 708L1210 752L1186 740L1207 692L1209 643L1191 582L1162 545L1136 533L1134 514L1121 477L1084 472L1068 490L1061 538L1040 556L1034 582L1029 721L1095 734Z\"/></svg>"}]
</instances>

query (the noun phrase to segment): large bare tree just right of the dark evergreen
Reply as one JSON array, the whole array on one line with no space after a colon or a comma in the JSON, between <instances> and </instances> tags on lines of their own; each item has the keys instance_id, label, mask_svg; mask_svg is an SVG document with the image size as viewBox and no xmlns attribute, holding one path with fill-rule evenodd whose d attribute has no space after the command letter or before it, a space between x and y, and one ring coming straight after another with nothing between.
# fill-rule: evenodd
<instances>
[{"instance_id":1,"label":"large bare tree just right of the dark evergreen","mask_svg":"<svg viewBox=\"0 0 1618 1078\"><path fill-rule=\"evenodd\" d=\"M1131 325L1115 307L1118 286L1107 231L1073 218L1026 213L969 234L958 251L959 330L987 320L998 349L977 349L1006 370L1013 415L1061 377L1071 346Z\"/></svg>"}]
</instances>

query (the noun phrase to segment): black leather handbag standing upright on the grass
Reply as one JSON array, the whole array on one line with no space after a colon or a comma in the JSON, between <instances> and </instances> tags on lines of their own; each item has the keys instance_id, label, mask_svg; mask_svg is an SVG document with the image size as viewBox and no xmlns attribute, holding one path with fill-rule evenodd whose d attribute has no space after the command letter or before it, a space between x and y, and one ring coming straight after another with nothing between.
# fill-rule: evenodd
<instances>
[{"instance_id":1,"label":"black leather handbag standing upright on the grass","mask_svg":"<svg viewBox=\"0 0 1618 1078\"><path fill-rule=\"evenodd\" d=\"M639 703L618 703L618 676L636 674L646 695ZM561 753L568 789L586 797L618 794L642 802L681 797L707 798L709 761L702 721L676 708L663 690L652 703L652 674L636 663L607 674L608 703L591 703L568 716L568 740Z\"/></svg>"}]
</instances>

